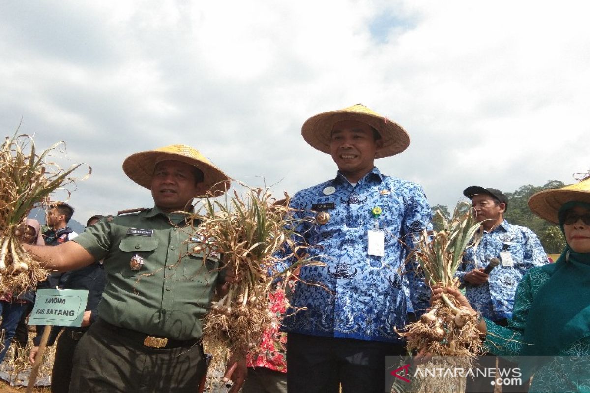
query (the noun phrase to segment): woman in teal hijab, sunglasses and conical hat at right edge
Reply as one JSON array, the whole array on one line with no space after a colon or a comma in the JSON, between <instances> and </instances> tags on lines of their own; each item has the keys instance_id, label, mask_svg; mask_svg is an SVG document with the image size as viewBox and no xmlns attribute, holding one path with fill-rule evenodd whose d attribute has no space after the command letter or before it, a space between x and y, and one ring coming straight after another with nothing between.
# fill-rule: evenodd
<instances>
[{"instance_id":1,"label":"woman in teal hijab, sunglasses and conical hat at right edge","mask_svg":"<svg viewBox=\"0 0 590 393\"><path fill-rule=\"evenodd\" d=\"M590 392L590 179L529 199L533 213L559 224L567 246L555 263L529 269L505 328L482 318L486 349L521 358L530 392ZM434 289L433 298L441 289ZM448 293L475 313L458 290Z\"/></svg>"}]
</instances>

